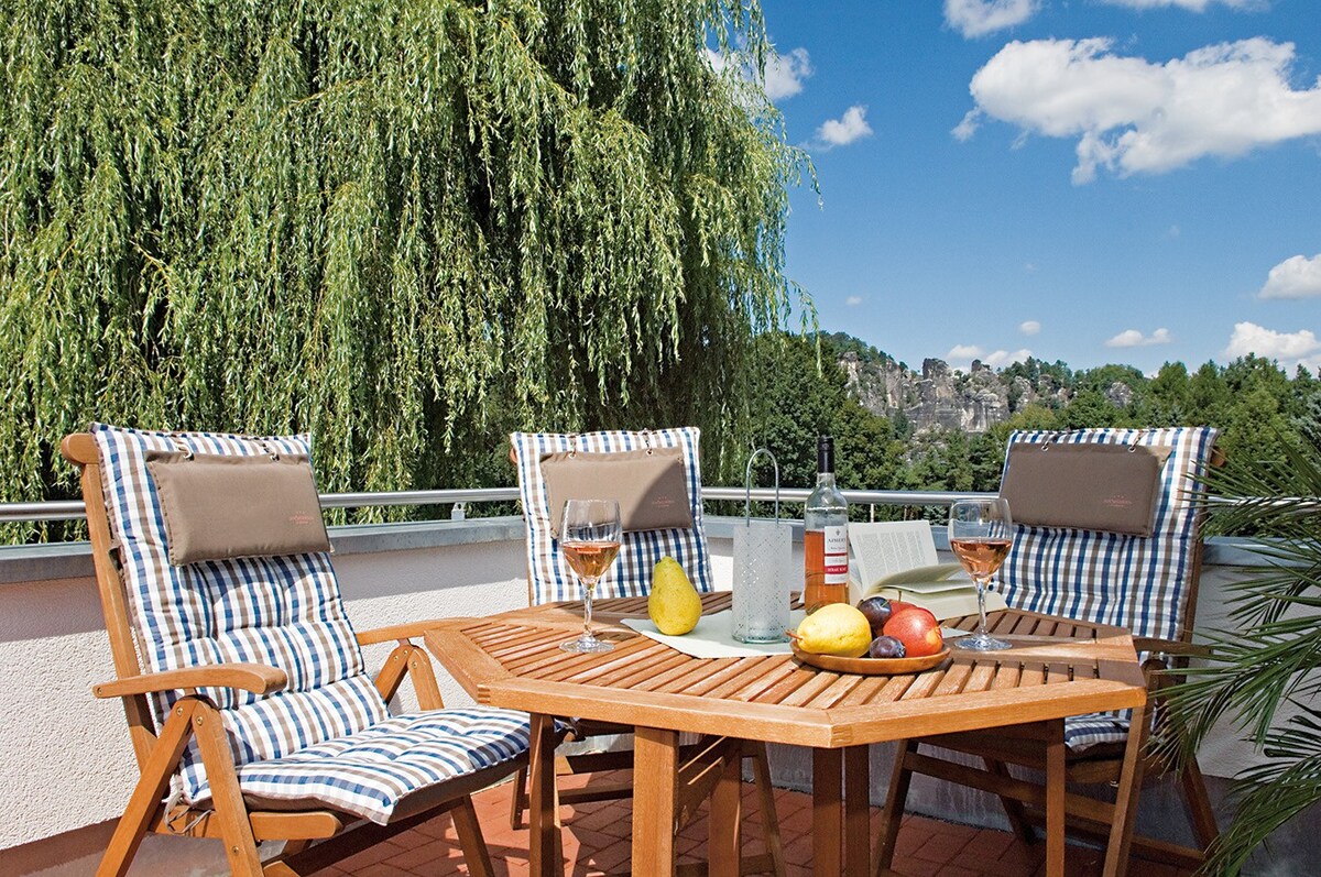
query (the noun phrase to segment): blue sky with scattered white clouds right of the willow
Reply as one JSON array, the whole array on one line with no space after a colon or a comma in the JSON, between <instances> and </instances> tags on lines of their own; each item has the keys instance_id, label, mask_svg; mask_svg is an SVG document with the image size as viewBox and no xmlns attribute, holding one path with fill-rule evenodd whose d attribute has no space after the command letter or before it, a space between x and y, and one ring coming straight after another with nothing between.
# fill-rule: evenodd
<instances>
[{"instance_id":1,"label":"blue sky with scattered white clouds right of the willow","mask_svg":"<svg viewBox=\"0 0 1321 877\"><path fill-rule=\"evenodd\" d=\"M762 0L787 273L914 368L1321 366L1316 0Z\"/></svg>"}]
</instances>

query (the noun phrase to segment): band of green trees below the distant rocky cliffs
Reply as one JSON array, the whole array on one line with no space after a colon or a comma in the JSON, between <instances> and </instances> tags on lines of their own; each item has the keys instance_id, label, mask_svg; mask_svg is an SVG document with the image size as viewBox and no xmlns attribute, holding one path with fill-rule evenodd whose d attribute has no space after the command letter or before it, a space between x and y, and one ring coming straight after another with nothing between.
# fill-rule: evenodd
<instances>
[{"instance_id":1,"label":"band of green trees below the distant rocky cliffs","mask_svg":"<svg viewBox=\"0 0 1321 877\"><path fill-rule=\"evenodd\" d=\"M1305 368L1289 379L1276 363L1255 357L1223 368L1206 363L1192 375L1181 363L1166 363L1153 378L1129 366L1074 372L1062 362L1032 358L997 374L954 372L955 395L999 388L1012 412L984 433L964 433L918 428L902 407L889 416L861 408L845 372L834 367L845 354L857 358L849 367L860 367L864 380L872 382L868 392L882 386L893 392L896 380L902 384L896 372L904 366L843 333L818 333L815 346L811 338L782 333L758 338L748 446L770 444L786 485L811 483L820 432L836 437L836 468L845 487L952 491L997 490L1005 442L1015 429L1205 424L1221 428L1221 449L1242 466L1279 460L1285 441L1321 433L1321 382ZM915 380L911 375L910 383ZM900 405L917 402L914 394ZM736 456L746 458L746 450ZM727 481L741 478L737 472Z\"/></svg>"}]
</instances>

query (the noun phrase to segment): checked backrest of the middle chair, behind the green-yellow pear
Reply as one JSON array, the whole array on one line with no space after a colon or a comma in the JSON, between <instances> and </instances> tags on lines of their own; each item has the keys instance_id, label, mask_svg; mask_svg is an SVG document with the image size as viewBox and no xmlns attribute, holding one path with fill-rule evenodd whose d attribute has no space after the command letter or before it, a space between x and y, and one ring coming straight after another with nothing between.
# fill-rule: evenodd
<instances>
[{"instance_id":1,"label":"checked backrest of the middle chair, behind the green-yellow pear","mask_svg":"<svg viewBox=\"0 0 1321 877\"><path fill-rule=\"evenodd\" d=\"M625 532L620 559L597 585L601 597L638 597L651 590L651 572L657 563L671 556L678 560L694 586L700 592L713 589L707 536L701 527L701 465L699 445L701 432L695 427L651 429L642 432L530 433L510 436L518 489L523 501L523 524L527 531L528 597L532 604L577 600L577 580L564 560L551 532L551 510L547 501L542 460L552 453L577 450L583 454L638 450L645 448L679 448L683 452L684 479L692 528L647 530Z\"/></svg>"}]
</instances>

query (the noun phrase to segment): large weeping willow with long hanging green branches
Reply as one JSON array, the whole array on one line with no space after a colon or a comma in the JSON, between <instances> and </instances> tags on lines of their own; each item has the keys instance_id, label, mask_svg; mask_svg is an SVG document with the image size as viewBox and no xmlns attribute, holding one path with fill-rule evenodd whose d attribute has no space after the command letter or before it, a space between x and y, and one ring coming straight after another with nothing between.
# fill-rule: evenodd
<instances>
[{"instance_id":1,"label":"large weeping willow with long hanging green branches","mask_svg":"<svg viewBox=\"0 0 1321 877\"><path fill-rule=\"evenodd\" d=\"M7 499L92 419L310 431L369 490L511 427L732 435L803 161L756 1L0 8Z\"/></svg>"}]
</instances>

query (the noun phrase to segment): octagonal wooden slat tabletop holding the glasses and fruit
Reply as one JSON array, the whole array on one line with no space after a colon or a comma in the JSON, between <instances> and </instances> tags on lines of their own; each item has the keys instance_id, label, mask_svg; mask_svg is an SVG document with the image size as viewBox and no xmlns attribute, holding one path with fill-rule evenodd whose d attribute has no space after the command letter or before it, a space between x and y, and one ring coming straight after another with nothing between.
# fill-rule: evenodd
<instances>
[{"instance_id":1,"label":"octagonal wooden slat tabletop holding the glasses and fruit","mask_svg":"<svg viewBox=\"0 0 1321 877\"><path fill-rule=\"evenodd\" d=\"M729 605L705 594L705 612ZM791 655L699 659L618 626L646 598L596 605L597 635L616 649L575 655L581 605L555 604L439 623L432 652L480 703L629 725L840 748L1062 719L1145 703L1124 630L1018 610L991 627L1007 651L954 650L921 674L863 676L803 666ZM971 629L975 618L947 622Z\"/></svg>"}]
</instances>

